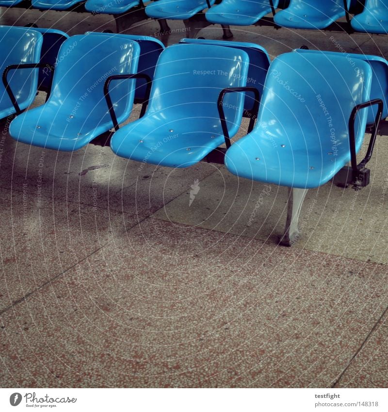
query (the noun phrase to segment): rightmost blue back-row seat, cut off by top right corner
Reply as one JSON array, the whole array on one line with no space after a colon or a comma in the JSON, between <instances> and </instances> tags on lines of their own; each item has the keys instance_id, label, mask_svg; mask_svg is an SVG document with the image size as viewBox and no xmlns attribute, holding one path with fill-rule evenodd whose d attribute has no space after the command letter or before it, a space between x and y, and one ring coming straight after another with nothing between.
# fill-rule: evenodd
<instances>
[{"instance_id":1,"label":"rightmost blue back-row seat, cut off by top right corner","mask_svg":"<svg viewBox=\"0 0 388 412\"><path fill-rule=\"evenodd\" d=\"M388 33L388 0L366 0L362 13L350 21L356 32Z\"/></svg>"}]
</instances>

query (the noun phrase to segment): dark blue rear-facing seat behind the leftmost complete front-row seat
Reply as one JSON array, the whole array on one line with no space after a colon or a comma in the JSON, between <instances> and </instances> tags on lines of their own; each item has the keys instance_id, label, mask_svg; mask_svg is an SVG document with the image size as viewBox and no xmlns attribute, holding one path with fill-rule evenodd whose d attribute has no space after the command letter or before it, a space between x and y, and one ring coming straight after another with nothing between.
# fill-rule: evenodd
<instances>
[{"instance_id":1,"label":"dark blue rear-facing seat behind the leftmost complete front-row seat","mask_svg":"<svg viewBox=\"0 0 388 412\"><path fill-rule=\"evenodd\" d=\"M148 75L151 80L154 79L155 68L159 56L165 49L163 43L155 37L136 36L132 34L115 34L115 33L96 33L87 32L86 34L98 34L102 36L124 36L129 40L137 42L140 46L139 65L137 73ZM135 103L142 102L146 97L146 80L136 80Z\"/></svg>"}]
</instances>

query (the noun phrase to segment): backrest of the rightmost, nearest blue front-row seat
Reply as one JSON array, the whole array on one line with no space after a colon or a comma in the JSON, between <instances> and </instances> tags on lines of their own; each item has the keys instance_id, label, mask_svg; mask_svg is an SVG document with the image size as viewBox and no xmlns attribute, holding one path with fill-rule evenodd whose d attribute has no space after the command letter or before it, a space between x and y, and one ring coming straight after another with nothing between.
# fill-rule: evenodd
<instances>
[{"instance_id":1,"label":"backrest of the rightmost, nearest blue front-row seat","mask_svg":"<svg viewBox=\"0 0 388 412\"><path fill-rule=\"evenodd\" d=\"M292 139L293 150L322 152L336 147L349 153L349 117L356 104L370 99L371 66L355 70L344 56L285 53L272 63L264 86L259 119L252 134L275 134L278 146ZM356 149L361 146L367 109L356 118Z\"/></svg>"}]
</instances>

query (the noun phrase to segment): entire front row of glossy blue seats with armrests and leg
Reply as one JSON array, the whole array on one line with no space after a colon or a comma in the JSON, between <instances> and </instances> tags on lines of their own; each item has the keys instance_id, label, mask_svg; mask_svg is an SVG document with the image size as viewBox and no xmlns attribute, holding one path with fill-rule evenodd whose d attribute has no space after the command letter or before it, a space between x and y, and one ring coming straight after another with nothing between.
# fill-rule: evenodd
<instances>
[{"instance_id":1,"label":"entire front row of glossy blue seats with armrests and leg","mask_svg":"<svg viewBox=\"0 0 388 412\"><path fill-rule=\"evenodd\" d=\"M388 115L388 62L378 56L298 49L271 63L250 43L182 39L164 49L151 37L112 33L67 38L46 103L22 113L36 93L37 67L47 67L43 37L0 27L0 116L17 114L9 128L14 139L73 151L114 128L110 146L127 159L169 167L225 162L239 177L288 186L288 245L298 237L308 188L349 161L347 181L364 185L377 126ZM141 117L120 128L136 95ZM231 144L243 115L248 133ZM372 139L357 164L368 125Z\"/></svg>"}]
</instances>

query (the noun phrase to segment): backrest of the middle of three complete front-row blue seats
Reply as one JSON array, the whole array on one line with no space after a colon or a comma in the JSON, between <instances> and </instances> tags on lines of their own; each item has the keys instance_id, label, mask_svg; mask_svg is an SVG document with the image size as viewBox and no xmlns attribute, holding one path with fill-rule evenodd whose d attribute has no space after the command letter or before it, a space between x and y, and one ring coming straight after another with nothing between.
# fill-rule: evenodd
<instances>
[{"instance_id":1,"label":"backrest of the middle of three complete front-row blue seats","mask_svg":"<svg viewBox=\"0 0 388 412\"><path fill-rule=\"evenodd\" d=\"M147 114L219 118L220 92L244 86L248 65L249 57L242 50L199 44L170 46L159 57ZM243 94L228 93L224 111L230 124L240 124Z\"/></svg>"}]
</instances>

